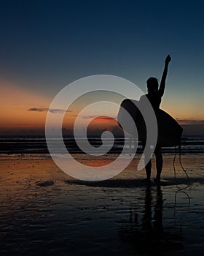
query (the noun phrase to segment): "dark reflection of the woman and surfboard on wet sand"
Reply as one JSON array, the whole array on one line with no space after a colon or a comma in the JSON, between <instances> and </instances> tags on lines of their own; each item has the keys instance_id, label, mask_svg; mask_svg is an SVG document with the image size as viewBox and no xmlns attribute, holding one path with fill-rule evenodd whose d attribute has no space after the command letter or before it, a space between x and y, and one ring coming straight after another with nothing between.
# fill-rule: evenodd
<instances>
[{"instance_id":1,"label":"dark reflection of the woman and surfboard on wet sand","mask_svg":"<svg viewBox=\"0 0 204 256\"><path fill-rule=\"evenodd\" d=\"M143 217L138 219L137 206L130 208L130 219L119 227L119 236L123 243L129 244L134 252L141 254L162 255L164 252L183 249L181 230L175 226L165 229L162 224L163 197L162 189L156 192L146 186Z\"/></svg>"}]
</instances>

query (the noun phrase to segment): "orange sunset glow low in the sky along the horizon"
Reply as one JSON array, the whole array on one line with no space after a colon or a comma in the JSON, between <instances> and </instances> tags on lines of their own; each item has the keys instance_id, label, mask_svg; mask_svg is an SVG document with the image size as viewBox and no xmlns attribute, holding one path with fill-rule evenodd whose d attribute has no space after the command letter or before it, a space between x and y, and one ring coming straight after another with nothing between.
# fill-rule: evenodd
<instances>
[{"instance_id":1,"label":"orange sunset glow low in the sky along the horizon","mask_svg":"<svg viewBox=\"0 0 204 256\"><path fill-rule=\"evenodd\" d=\"M50 99L42 97L42 95L36 94L34 91L23 89L21 86L2 80L0 80L0 90L0 129L4 131L1 134L9 129L13 131L15 129L44 130L47 110L51 103ZM192 107L187 108L187 105L181 105L178 108L176 102L175 104L168 105L168 99L165 99L164 102L165 104L162 104L162 109L173 116L173 118L176 118L179 124L203 124L203 106L200 107L200 110L195 111ZM73 129L76 116L79 115L79 105L76 104L72 107L73 109L64 116L63 128L65 129ZM79 129L85 127L85 124L88 124L88 129L90 130L106 129L111 131L119 128L116 119L109 116L94 116L97 110L93 113L90 112L87 113L90 116L79 116ZM117 113L114 113L114 115L117 116ZM58 119L58 111L53 113L53 118L54 122ZM90 123L88 122L89 120Z\"/></svg>"}]
</instances>

